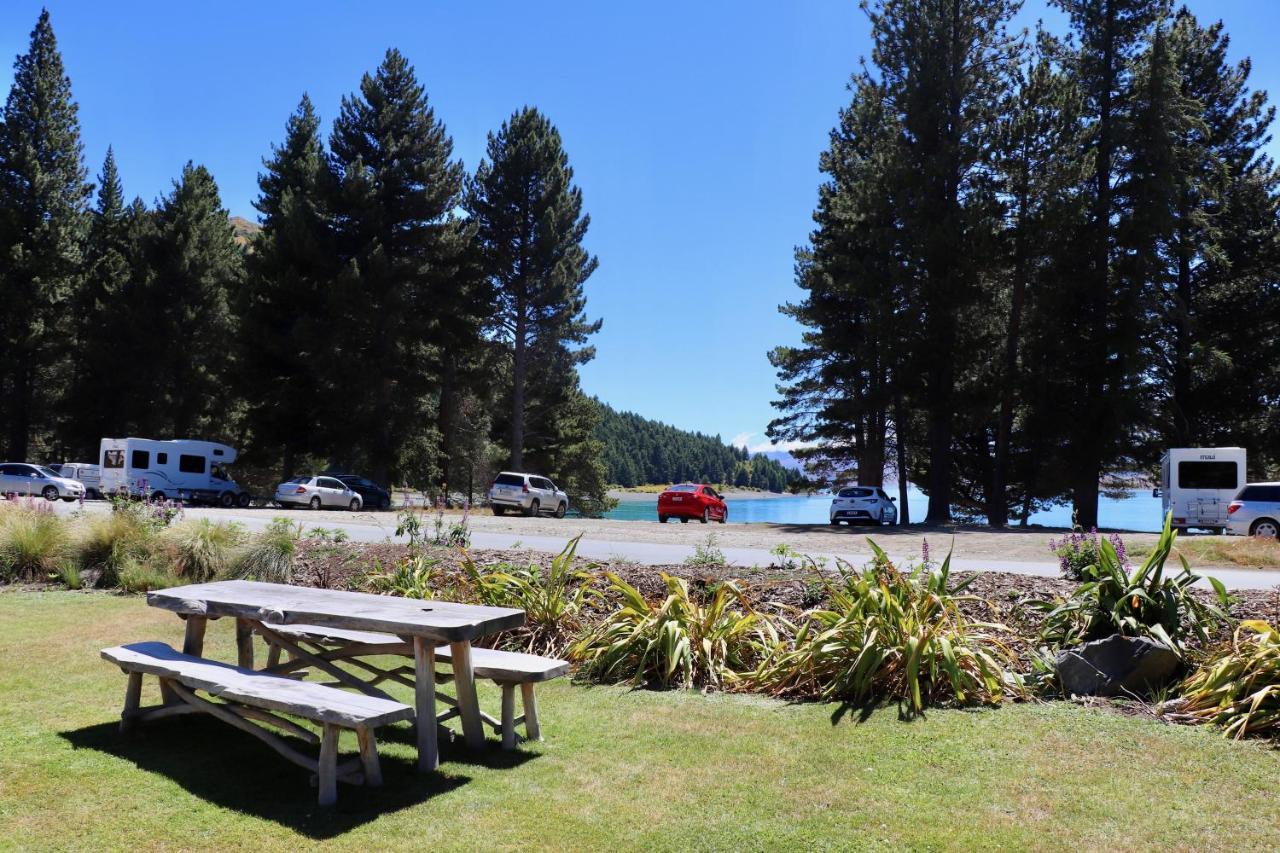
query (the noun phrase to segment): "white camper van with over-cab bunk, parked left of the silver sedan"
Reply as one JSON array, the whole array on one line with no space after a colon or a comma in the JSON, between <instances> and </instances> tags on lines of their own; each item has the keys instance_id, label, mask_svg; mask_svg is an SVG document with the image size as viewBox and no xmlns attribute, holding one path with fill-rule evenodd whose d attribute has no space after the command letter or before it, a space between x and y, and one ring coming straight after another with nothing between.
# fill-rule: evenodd
<instances>
[{"instance_id":1,"label":"white camper van with over-cab bunk, parked left of the silver sedan","mask_svg":"<svg viewBox=\"0 0 1280 853\"><path fill-rule=\"evenodd\" d=\"M189 438L104 438L99 453L104 494L248 506L250 493L227 473L236 448Z\"/></svg>"}]
</instances>

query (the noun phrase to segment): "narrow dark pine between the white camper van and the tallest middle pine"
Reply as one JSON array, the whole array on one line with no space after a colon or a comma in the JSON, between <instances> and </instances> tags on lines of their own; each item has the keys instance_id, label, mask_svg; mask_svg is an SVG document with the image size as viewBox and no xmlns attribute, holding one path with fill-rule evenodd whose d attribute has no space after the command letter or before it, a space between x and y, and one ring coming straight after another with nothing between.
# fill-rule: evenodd
<instances>
[{"instance_id":1,"label":"narrow dark pine between the white camper van and the tallest middle pine","mask_svg":"<svg viewBox=\"0 0 1280 853\"><path fill-rule=\"evenodd\" d=\"M325 392L339 357L334 329L343 323L329 291L338 270L333 179L320 119L306 95L264 165L255 201L262 231L247 257L248 286L238 305L238 378L253 444L279 452L288 479L303 455L332 455Z\"/></svg>"}]
</instances>

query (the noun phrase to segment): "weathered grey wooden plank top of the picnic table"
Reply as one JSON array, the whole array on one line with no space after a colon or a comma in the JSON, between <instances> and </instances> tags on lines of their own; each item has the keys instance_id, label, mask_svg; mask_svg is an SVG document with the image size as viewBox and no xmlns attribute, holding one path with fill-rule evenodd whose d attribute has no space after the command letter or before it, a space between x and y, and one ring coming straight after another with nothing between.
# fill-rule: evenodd
<instances>
[{"instance_id":1,"label":"weathered grey wooden plank top of the picnic table","mask_svg":"<svg viewBox=\"0 0 1280 853\"><path fill-rule=\"evenodd\" d=\"M266 625L325 625L443 643L520 628L525 611L447 601L314 589L255 580L215 580L147 593L152 607L184 616L236 616Z\"/></svg>"}]
</instances>

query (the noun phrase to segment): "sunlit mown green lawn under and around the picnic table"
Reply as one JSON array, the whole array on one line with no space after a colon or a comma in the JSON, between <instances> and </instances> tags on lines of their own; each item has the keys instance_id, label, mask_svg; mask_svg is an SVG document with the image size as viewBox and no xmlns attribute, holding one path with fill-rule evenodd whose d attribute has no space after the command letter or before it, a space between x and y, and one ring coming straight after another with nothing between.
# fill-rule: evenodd
<instances>
[{"instance_id":1,"label":"sunlit mown green lawn under and around the picnic table","mask_svg":"<svg viewBox=\"0 0 1280 853\"><path fill-rule=\"evenodd\" d=\"M234 660L232 634L212 622L206 653ZM564 680L540 689L545 743L445 747L420 776L393 727L385 786L339 785L325 811L305 771L216 720L118 734L124 676L97 652L142 639L180 644L180 622L141 598L0 592L0 848L1280 848L1280 751L1206 729L1061 702L859 721Z\"/></svg>"}]
</instances>

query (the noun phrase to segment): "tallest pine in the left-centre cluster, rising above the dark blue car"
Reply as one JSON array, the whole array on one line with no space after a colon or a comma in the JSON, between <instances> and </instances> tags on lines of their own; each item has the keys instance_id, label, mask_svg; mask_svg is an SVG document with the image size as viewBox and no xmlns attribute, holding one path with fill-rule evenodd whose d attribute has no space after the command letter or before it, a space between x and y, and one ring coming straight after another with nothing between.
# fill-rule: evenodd
<instances>
[{"instance_id":1,"label":"tallest pine in the left-centre cluster, rising above the dark blue car","mask_svg":"<svg viewBox=\"0 0 1280 853\"><path fill-rule=\"evenodd\" d=\"M360 92L344 97L329 140L338 186L342 370L347 414L338 441L362 448L374 479L426 485L440 473L444 350L477 337L485 301L474 286L462 164L412 67L388 50Z\"/></svg>"}]
</instances>

